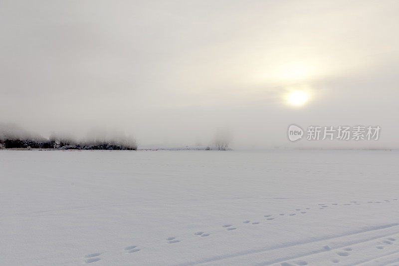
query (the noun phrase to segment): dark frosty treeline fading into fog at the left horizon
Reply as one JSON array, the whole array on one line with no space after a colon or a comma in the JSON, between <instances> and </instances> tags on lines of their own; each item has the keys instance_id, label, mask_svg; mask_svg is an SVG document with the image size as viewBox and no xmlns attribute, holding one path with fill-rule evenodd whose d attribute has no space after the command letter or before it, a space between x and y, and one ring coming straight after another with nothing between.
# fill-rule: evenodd
<instances>
[{"instance_id":1,"label":"dark frosty treeline fading into fog at the left horizon","mask_svg":"<svg viewBox=\"0 0 399 266\"><path fill-rule=\"evenodd\" d=\"M134 138L125 136L75 140L71 137L52 135L49 139L46 139L35 134L29 134L17 127L7 127L6 129L0 127L0 148L137 150L137 143Z\"/></svg>"}]
</instances>

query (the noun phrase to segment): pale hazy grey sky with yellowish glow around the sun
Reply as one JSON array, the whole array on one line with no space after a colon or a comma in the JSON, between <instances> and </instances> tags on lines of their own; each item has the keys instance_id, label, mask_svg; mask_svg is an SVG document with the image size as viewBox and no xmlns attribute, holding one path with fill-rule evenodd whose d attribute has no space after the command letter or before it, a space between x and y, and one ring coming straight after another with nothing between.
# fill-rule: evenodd
<instances>
[{"instance_id":1,"label":"pale hazy grey sky with yellowish glow around the sun","mask_svg":"<svg viewBox=\"0 0 399 266\"><path fill-rule=\"evenodd\" d=\"M398 0L1 0L0 122L287 147L291 123L380 125L378 142L334 146L397 148L398 14Z\"/></svg>"}]
</instances>

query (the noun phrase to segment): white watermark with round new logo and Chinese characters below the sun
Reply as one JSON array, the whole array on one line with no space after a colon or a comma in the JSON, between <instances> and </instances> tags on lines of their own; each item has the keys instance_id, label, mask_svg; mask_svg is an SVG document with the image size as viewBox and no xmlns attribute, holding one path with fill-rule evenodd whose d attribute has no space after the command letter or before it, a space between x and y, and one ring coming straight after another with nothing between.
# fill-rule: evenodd
<instances>
[{"instance_id":1,"label":"white watermark with round new logo and Chinese characters below the sun","mask_svg":"<svg viewBox=\"0 0 399 266\"><path fill-rule=\"evenodd\" d=\"M378 140L380 126L309 126L306 140ZM288 139L292 142L302 139L304 131L300 126L288 127Z\"/></svg>"}]
</instances>

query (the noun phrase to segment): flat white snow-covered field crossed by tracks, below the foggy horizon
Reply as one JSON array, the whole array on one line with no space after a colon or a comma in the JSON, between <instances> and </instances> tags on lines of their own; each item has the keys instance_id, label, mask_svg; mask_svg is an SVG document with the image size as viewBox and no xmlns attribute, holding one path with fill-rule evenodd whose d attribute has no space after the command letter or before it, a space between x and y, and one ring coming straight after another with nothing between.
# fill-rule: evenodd
<instances>
[{"instance_id":1,"label":"flat white snow-covered field crossed by tracks, below the foggy horizon","mask_svg":"<svg viewBox=\"0 0 399 266\"><path fill-rule=\"evenodd\" d=\"M397 151L0 151L0 265L399 265Z\"/></svg>"}]
</instances>

